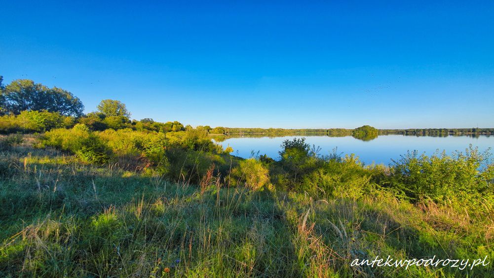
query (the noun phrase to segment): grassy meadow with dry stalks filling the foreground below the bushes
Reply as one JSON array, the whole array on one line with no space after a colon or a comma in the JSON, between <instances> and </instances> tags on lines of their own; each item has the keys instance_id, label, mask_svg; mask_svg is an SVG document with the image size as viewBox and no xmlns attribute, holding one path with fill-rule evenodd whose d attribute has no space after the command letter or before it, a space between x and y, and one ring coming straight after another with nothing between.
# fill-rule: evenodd
<instances>
[{"instance_id":1,"label":"grassy meadow with dry stalks filling the foreground below the bushes","mask_svg":"<svg viewBox=\"0 0 494 278\"><path fill-rule=\"evenodd\" d=\"M489 277L351 266L355 259L494 258L493 210L410 202L371 189L253 189L206 172L195 184L35 148L0 155L1 277ZM479 201L482 204L482 201Z\"/></svg>"}]
</instances>

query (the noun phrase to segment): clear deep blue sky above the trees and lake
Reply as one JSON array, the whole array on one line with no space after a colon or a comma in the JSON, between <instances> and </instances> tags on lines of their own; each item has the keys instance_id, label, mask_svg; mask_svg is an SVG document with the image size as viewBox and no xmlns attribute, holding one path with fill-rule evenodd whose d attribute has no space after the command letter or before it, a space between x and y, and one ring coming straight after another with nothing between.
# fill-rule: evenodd
<instances>
[{"instance_id":1,"label":"clear deep blue sky above the trees and lake","mask_svg":"<svg viewBox=\"0 0 494 278\"><path fill-rule=\"evenodd\" d=\"M36 2L0 4L0 75L86 112L111 98L191 125L494 127L492 0Z\"/></svg>"}]
</instances>

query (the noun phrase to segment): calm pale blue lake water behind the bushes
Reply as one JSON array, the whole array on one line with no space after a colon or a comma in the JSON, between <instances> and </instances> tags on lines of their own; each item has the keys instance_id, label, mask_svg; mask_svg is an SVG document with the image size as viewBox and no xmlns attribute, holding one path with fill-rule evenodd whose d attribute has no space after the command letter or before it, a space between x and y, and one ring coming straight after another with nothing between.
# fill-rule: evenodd
<instances>
[{"instance_id":1,"label":"calm pale blue lake water behind the bushes","mask_svg":"<svg viewBox=\"0 0 494 278\"><path fill-rule=\"evenodd\" d=\"M469 144L478 147L479 151L485 151L494 147L494 136L404 136L404 135L379 135L371 141L362 141L352 136L283 136L283 137L240 137L228 138L219 142L224 148L230 146L234 149L232 155L249 158L251 151L273 159L279 159L280 145L286 139L305 137L310 145L320 146L321 155L332 153L333 148L338 148L338 154L355 154L365 164L377 163L388 165L391 159L400 159L407 151L417 150L419 154L432 155L436 150L445 150L447 154L454 151L465 151ZM493 151L491 150L492 154Z\"/></svg>"}]
</instances>

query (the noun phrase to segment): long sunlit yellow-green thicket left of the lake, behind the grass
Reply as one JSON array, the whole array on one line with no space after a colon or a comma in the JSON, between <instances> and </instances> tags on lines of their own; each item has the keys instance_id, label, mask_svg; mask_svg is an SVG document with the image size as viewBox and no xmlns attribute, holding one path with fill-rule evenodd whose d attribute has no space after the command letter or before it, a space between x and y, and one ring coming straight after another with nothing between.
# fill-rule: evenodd
<instances>
[{"instance_id":1,"label":"long sunlit yellow-green thicket left of the lake, behind the grass","mask_svg":"<svg viewBox=\"0 0 494 278\"><path fill-rule=\"evenodd\" d=\"M212 164L216 174L225 177L233 161L227 163L226 158L232 157L204 130L196 129L167 133L130 128L91 131L79 123L72 129L46 132L40 145L69 151L85 162L112 160L129 170L151 170L188 183L199 182Z\"/></svg>"}]
</instances>

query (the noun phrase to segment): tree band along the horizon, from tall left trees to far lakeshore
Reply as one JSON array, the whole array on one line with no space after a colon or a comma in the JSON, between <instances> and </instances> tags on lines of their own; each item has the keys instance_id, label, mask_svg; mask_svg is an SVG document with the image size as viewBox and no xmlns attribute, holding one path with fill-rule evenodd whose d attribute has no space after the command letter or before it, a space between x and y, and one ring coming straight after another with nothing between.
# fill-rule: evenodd
<instances>
[{"instance_id":1,"label":"tree band along the horizon, from tall left trees to far lakeshore","mask_svg":"<svg viewBox=\"0 0 494 278\"><path fill-rule=\"evenodd\" d=\"M86 125L92 131L106 129L149 130L157 132L176 132L192 129L178 121L157 122L153 119L131 120L130 112L124 103L118 100L102 100L95 112L83 114L82 101L71 92L29 79L13 80L3 83L0 76L0 133L45 132L53 128L72 128L78 123ZM447 136L450 134L486 134L494 135L494 128L426 128L426 129L375 129L364 125L355 129L345 128L244 128L198 126L209 134L252 134L266 136L310 135L349 136L371 140L377 135L404 134L416 136Z\"/></svg>"}]
</instances>

